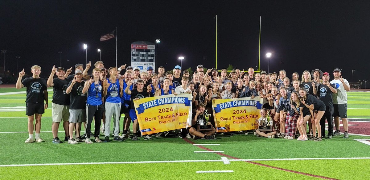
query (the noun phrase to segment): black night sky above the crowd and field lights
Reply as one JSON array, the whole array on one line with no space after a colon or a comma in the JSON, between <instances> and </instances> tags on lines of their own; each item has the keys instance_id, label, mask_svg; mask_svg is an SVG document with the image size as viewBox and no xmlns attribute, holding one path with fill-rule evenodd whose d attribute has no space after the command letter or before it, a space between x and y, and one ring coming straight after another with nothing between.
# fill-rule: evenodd
<instances>
[{"instance_id":1,"label":"black night sky above the crowd and field lights","mask_svg":"<svg viewBox=\"0 0 370 180\"><path fill-rule=\"evenodd\" d=\"M118 29L118 64L130 63L131 42L161 39L156 66L171 70L215 67L215 15L218 15L218 69L258 65L262 16L261 69L272 52L270 72L334 68L353 81L369 80L370 1L0 1L0 49L7 70L37 64L47 77L53 64L70 68L99 60L115 65L115 41L100 36ZM203 56L207 56L204 63ZM3 55L0 58L3 65ZM67 59L70 61L67 64ZM167 63L167 65L166 65ZM255 68L256 69L256 68Z\"/></svg>"}]
</instances>

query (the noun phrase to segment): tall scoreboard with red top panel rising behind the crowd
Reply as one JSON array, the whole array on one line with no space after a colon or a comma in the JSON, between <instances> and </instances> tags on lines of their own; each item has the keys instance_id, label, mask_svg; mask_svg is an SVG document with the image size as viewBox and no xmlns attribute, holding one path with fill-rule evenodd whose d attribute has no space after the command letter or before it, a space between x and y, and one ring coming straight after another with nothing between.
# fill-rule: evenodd
<instances>
[{"instance_id":1,"label":"tall scoreboard with red top panel rising behind the crowd","mask_svg":"<svg viewBox=\"0 0 370 180\"><path fill-rule=\"evenodd\" d=\"M131 66L146 72L148 66L155 69L155 44L148 41L131 43Z\"/></svg>"}]
</instances>

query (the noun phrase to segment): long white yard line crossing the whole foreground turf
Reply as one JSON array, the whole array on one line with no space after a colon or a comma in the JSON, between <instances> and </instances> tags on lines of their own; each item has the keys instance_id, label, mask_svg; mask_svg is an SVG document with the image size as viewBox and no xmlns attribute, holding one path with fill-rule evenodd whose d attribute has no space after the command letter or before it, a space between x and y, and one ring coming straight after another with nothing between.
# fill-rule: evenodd
<instances>
[{"instance_id":1,"label":"long white yard line crossing the whole foreground turf","mask_svg":"<svg viewBox=\"0 0 370 180\"><path fill-rule=\"evenodd\" d=\"M285 158L285 159L229 159L229 161L270 161L270 160L318 160L318 159L370 159L370 157L359 158ZM223 162L222 159L210 160L162 160L162 161L125 161L125 162L84 162L84 163L40 163L40 164L18 164L0 165L0 167L12 166L53 166L53 165L102 165L102 164L139 164L139 163L184 163L184 162Z\"/></svg>"}]
</instances>

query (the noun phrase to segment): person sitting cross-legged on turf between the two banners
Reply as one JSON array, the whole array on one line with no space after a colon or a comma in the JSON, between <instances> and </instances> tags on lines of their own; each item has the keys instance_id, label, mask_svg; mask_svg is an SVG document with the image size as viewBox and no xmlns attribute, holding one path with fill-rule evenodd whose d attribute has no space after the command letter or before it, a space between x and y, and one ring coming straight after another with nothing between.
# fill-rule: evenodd
<instances>
[{"instance_id":1,"label":"person sitting cross-legged on turf between the two banners","mask_svg":"<svg viewBox=\"0 0 370 180\"><path fill-rule=\"evenodd\" d=\"M199 138L204 138L204 139L216 139L215 137L215 132L216 129L212 128L212 130L207 130L207 131L197 131L197 126L198 125L203 125L205 121L204 117L204 110L206 108L206 104L200 103L198 110L196 113L193 115L192 118L192 126L189 128L189 134L193 136L193 139L199 139ZM211 122L208 122L208 124L211 124Z\"/></svg>"}]
</instances>

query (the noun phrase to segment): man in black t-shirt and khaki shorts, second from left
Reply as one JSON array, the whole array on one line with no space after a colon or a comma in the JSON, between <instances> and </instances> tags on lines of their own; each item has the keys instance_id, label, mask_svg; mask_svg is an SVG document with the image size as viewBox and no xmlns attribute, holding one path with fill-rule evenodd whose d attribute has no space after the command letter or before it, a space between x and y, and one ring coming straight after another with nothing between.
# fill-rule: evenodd
<instances>
[{"instance_id":1,"label":"man in black t-shirt and khaki shorts, second from left","mask_svg":"<svg viewBox=\"0 0 370 180\"><path fill-rule=\"evenodd\" d=\"M54 74L57 78L54 78ZM51 101L51 116L53 117L53 124L51 124L51 132L53 133L53 142L61 143L58 138L59 124L63 120L63 128L65 132L64 141L68 141L68 118L69 118L69 101L70 95L66 93L70 79L64 77L65 70L62 67L51 69L47 85L53 87L53 101Z\"/></svg>"}]
</instances>

